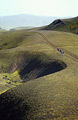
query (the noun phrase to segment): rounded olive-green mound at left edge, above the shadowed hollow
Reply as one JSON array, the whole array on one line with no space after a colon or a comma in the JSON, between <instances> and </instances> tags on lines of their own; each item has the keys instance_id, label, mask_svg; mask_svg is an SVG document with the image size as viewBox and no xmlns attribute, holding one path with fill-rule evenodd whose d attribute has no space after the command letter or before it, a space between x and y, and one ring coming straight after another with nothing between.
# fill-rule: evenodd
<instances>
[{"instance_id":1,"label":"rounded olive-green mound at left edge, above the shadowed hollow","mask_svg":"<svg viewBox=\"0 0 78 120\"><path fill-rule=\"evenodd\" d=\"M0 50L15 48L20 45L27 35L21 32L5 32L0 35Z\"/></svg>"}]
</instances>

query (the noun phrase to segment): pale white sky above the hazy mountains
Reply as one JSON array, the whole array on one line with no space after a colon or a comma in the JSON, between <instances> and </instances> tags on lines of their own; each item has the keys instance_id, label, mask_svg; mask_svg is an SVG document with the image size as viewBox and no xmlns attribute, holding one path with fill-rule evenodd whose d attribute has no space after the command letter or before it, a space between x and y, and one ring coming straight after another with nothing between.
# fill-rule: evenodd
<instances>
[{"instance_id":1,"label":"pale white sky above the hazy mountains","mask_svg":"<svg viewBox=\"0 0 78 120\"><path fill-rule=\"evenodd\" d=\"M0 0L0 16L17 14L76 17L78 0Z\"/></svg>"}]
</instances>

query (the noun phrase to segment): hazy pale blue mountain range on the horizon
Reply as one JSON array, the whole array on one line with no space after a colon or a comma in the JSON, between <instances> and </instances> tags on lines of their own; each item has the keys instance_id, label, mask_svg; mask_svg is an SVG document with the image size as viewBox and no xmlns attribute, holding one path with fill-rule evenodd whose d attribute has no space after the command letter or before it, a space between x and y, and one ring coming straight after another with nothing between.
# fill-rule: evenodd
<instances>
[{"instance_id":1,"label":"hazy pale blue mountain range on the horizon","mask_svg":"<svg viewBox=\"0 0 78 120\"><path fill-rule=\"evenodd\" d=\"M12 15L0 17L0 27L12 29L16 27L38 27L50 24L58 17L34 16L28 14Z\"/></svg>"}]
</instances>

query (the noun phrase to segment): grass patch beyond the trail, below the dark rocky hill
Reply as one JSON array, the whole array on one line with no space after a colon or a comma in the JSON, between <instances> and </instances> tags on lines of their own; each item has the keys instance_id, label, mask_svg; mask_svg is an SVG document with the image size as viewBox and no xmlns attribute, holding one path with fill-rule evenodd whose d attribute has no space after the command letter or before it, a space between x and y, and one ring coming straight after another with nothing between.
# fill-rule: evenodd
<instances>
[{"instance_id":1,"label":"grass patch beyond the trail, below the dark rocky hill","mask_svg":"<svg viewBox=\"0 0 78 120\"><path fill-rule=\"evenodd\" d=\"M78 36L66 32L47 31L43 32L50 41L57 47L68 50L75 55L78 55ZM56 37L58 36L58 37Z\"/></svg>"}]
</instances>

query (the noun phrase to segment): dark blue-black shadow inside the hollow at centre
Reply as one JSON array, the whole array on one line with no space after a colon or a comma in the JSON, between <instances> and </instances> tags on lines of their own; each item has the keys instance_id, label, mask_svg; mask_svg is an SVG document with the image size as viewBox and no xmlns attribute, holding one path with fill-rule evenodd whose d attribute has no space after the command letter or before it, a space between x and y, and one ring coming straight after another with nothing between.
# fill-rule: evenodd
<instances>
[{"instance_id":1,"label":"dark blue-black shadow inside the hollow at centre","mask_svg":"<svg viewBox=\"0 0 78 120\"><path fill-rule=\"evenodd\" d=\"M45 58L47 59L47 57ZM49 58L48 58L49 59ZM66 68L66 64L62 61L51 60L50 62L43 62L39 59L39 56L32 59L28 64L26 64L23 69L19 72L23 82L39 78L45 75L49 75Z\"/></svg>"}]
</instances>

